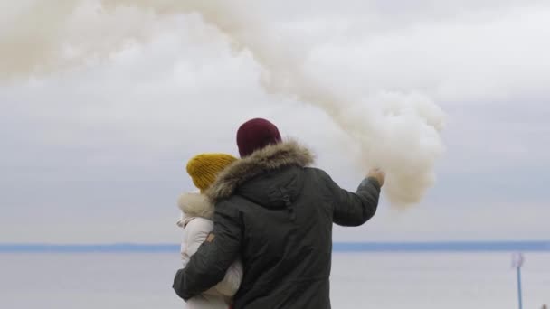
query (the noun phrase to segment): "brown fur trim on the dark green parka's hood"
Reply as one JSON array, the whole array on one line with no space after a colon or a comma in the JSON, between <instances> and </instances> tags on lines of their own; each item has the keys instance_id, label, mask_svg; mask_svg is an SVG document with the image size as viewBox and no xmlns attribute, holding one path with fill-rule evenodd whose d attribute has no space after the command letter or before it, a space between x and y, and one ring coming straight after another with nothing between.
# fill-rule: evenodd
<instances>
[{"instance_id":1,"label":"brown fur trim on the dark green parka's hood","mask_svg":"<svg viewBox=\"0 0 550 309\"><path fill-rule=\"evenodd\" d=\"M306 167L314 162L314 155L303 145L288 140L268 145L252 155L229 165L213 185L205 192L213 203L232 196L233 192L252 178L278 170L282 167L297 165Z\"/></svg>"}]
</instances>

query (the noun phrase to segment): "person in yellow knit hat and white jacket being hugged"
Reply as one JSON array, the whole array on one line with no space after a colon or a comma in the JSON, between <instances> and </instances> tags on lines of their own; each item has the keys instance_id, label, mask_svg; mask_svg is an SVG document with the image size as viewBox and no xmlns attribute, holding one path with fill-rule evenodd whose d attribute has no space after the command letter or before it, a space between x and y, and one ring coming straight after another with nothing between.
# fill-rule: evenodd
<instances>
[{"instance_id":1,"label":"person in yellow knit hat and white jacket being hugged","mask_svg":"<svg viewBox=\"0 0 550 309\"><path fill-rule=\"evenodd\" d=\"M197 155L187 164L187 173L194 184L204 192L215 180L217 173L231 164L235 158L223 154ZM213 230L213 204L199 192L188 192L180 196L178 207L182 211L177 225L184 229L181 245L182 261L185 265L197 248ZM225 277L202 295L196 295L186 303L187 309L227 309L232 304L232 296L237 293L242 280L242 264L235 261L225 273Z\"/></svg>"}]
</instances>

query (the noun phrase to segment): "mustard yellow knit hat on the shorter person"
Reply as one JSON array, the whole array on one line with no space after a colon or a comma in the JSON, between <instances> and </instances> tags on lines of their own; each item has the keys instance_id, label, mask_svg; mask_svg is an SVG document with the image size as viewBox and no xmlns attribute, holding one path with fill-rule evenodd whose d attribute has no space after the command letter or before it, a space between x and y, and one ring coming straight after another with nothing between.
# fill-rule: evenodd
<instances>
[{"instance_id":1,"label":"mustard yellow knit hat on the shorter person","mask_svg":"<svg viewBox=\"0 0 550 309\"><path fill-rule=\"evenodd\" d=\"M187 163L187 173L193 179L194 185L204 193L216 180L218 173L235 161L237 158L226 154L195 155Z\"/></svg>"}]
</instances>

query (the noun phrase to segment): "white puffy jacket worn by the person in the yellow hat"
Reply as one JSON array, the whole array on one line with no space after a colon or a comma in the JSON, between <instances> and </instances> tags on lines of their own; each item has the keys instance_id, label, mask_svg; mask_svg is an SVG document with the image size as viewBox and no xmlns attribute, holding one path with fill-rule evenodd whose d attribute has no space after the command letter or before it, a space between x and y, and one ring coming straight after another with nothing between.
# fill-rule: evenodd
<instances>
[{"instance_id":1,"label":"white puffy jacket worn by the person in the yellow hat","mask_svg":"<svg viewBox=\"0 0 550 309\"><path fill-rule=\"evenodd\" d=\"M181 246L184 267L189 258L204 242L213 229L213 204L200 193L183 194L178 201L182 217L177 225L184 229ZM242 264L235 261L225 273L225 277L202 295L196 295L186 303L187 309L227 309L232 296L237 293L242 280Z\"/></svg>"}]
</instances>

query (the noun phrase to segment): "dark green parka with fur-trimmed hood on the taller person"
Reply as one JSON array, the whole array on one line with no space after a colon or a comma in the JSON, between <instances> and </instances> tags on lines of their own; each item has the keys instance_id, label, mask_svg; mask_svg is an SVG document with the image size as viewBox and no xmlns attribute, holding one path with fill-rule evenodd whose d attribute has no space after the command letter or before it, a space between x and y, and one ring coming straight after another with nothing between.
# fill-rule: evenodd
<instances>
[{"instance_id":1,"label":"dark green parka with fur-trimmed hood on the taller person","mask_svg":"<svg viewBox=\"0 0 550 309\"><path fill-rule=\"evenodd\" d=\"M359 226L373 217L380 186L368 178L347 192L312 163L308 149L289 141L220 174L207 192L213 233L177 272L177 295L186 300L214 286L240 257L234 309L330 308L332 224Z\"/></svg>"}]
</instances>

